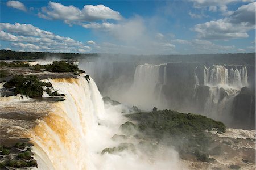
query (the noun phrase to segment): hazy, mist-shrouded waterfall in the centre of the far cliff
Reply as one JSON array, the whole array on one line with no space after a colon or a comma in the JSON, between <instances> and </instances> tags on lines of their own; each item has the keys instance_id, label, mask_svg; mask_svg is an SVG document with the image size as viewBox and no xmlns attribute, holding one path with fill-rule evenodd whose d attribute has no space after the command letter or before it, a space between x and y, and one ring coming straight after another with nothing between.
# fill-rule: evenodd
<instances>
[{"instance_id":1,"label":"hazy, mist-shrouded waterfall in the centre of the far cliff","mask_svg":"<svg viewBox=\"0 0 256 170\"><path fill-rule=\"evenodd\" d=\"M163 72L160 73L160 67ZM166 64L138 65L134 74L134 82L129 91L126 92L128 104L137 105L142 109L152 109L152 107L162 108L162 87L166 83Z\"/></svg>"}]
</instances>

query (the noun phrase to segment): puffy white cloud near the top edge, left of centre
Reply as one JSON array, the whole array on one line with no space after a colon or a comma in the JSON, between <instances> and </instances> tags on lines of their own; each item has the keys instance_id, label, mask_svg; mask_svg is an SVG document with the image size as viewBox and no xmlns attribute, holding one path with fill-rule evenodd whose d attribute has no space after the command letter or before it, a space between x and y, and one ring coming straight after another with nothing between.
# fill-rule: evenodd
<instances>
[{"instance_id":1,"label":"puffy white cloud near the top edge, left of centre","mask_svg":"<svg viewBox=\"0 0 256 170\"><path fill-rule=\"evenodd\" d=\"M82 10L70 5L64 6L61 3L49 2L47 7L42 7L38 16L44 19L63 20L68 24L77 22L95 22L97 20L114 19L120 20L119 12L104 5L85 5Z\"/></svg>"}]
</instances>

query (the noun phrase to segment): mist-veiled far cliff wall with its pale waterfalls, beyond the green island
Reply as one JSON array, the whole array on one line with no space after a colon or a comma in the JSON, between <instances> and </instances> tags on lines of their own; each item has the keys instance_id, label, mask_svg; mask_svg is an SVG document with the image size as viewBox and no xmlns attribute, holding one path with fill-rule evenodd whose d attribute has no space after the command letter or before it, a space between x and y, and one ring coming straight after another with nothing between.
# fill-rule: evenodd
<instances>
[{"instance_id":1,"label":"mist-veiled far cliff wall with its pale waterfalls, beyond the green island","mask_svg":"<svg viewBox=\"0 0 256 170\"><path fill-rule=\"evenodd\" d=\"M94 77L102 96L123 104L135 105L144 111L156 107L203 114L223 121L229 127L255 127L255 122L246 118L238 122L234 115L243 108L234 104L239 100L236 96L241 88L255 91L255 67L249 63L234 65L228 60L220 63L217 58L206 63L207 58L210 56L201 55L197 58L199 61L191 62L188 56L186 59L185 56L101 54L90 61L80 59L79 67ZM217 65L214 64L216 61L219 62ZM253 109L255 102L249 102L252 105L247 107ZM252 111L243 108L246 117L253 116Z\"/></svg>"}]
</instances>

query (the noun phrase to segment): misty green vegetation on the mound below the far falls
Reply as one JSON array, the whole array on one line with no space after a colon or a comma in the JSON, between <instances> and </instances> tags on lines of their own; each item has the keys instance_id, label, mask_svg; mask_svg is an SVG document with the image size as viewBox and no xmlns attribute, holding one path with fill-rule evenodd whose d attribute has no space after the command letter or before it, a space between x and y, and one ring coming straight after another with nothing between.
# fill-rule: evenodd
<instances>
[{"instance_id":1,"label":"misty green vegetation on the mound below the far falls","mask_svg":"<svg viewBox=\"0 0 256 170\"><path fill-rule=\"evenodd\" d=\"M137 122L136 124L126 122L120 126L126 135L134 135L134 131L138 130L145 136L134 135L137 138L159 142L168 141L166 144L174 146L181 154L181 158L183 154L192 154L197 160L210 162L214 160L209 158L210 153L220 154L220 148L208 149L212 138L207 130L224 132L226 128L222 122L191 113L184 114L171 110L157 111L156 108L149 113L140 112L126 116Z\"/></svg>"}]
</instances>

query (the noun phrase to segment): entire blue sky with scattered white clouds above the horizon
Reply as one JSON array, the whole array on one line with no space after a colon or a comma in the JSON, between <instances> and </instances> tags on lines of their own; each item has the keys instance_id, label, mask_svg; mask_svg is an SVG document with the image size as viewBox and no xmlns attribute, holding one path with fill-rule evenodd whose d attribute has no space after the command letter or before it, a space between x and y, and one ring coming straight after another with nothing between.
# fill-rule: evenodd
<instances>
[{"instance_id":1,"label":"entire blue sky with scattered white clouds above the horizon","mask_svg":"<svg viewBox=\"0 0 256 170\"><path fill-rule=\"evenodd\" d=\"M253 0L0 1L1 49L30 52L255 52Z\"/></svg>"}]
</instances>

